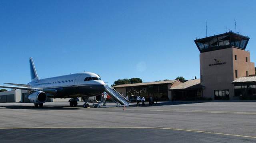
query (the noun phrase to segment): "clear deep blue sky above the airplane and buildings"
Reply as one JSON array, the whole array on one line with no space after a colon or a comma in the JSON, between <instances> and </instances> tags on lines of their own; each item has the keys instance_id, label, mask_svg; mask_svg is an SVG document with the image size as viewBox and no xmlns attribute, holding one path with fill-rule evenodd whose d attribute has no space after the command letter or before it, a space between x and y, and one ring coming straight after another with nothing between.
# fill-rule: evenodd
<instances>
[{"instance_id":1,"label":"clear deep blue sky above the airplane and buildings","mask_svg":"<svg viewBox=\"0 0 256 143\"><path fill-rule=\"evenodd\" d=\"M199 78L196 37L237 29L251 39L256 62L256 2L252 0L1 0L0 83L30 82L28 59L48 78L90 71L112 84Z\"/></svg>"}]
</instances>

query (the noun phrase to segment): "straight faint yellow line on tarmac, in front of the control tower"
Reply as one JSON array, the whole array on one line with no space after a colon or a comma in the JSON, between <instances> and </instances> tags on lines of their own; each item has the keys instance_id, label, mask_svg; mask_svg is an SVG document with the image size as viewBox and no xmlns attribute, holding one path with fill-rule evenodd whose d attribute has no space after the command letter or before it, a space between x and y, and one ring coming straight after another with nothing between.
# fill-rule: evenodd
<instances>
[{"instance_id":1,"label":"straight faint yellow line on tarmac, in front of the control tower","mask_svg":"<svg viewBox=\"0 0 256 143\"><path fill-rule=\"evenodd\" d=\"M126 110L256 115L256 113L246 113L246 112L218 112L218 111L198 111L198 110L177 111L177 110L149 110L149 109L147 110L147 109L130 109L130 108L129 109L126 108Z\"/></svg>"}]
</instances>

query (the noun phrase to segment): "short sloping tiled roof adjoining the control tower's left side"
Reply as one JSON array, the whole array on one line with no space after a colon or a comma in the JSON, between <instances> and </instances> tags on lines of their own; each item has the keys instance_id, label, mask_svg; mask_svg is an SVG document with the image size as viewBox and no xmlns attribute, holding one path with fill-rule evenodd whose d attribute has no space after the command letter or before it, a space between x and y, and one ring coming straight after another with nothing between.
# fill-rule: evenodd
<instances>
[{"instance_id":1,"label":"short sloping tiled roof adjoining the control tower's left side","mask_svg":"<svg viewBox=\"0 0 256 143\"><path fill-rule=\"evenodd\" d=\"M179 84L177 86L174 86L170 88L169 90L188 90L188 89L200 89L203 86L200 84L200 79L192 79L188 80L182 84Z\"/></svg>"}]
</instances>

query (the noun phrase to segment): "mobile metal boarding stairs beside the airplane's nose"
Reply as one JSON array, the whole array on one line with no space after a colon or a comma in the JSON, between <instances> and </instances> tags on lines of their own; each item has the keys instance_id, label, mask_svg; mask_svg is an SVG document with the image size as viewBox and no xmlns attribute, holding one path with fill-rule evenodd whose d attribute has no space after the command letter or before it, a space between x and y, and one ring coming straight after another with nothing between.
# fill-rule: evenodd
<instances>
[{"instance_id":1,"label":"mobile metal boarding stairs beside the airplane's nose","mask_svg":"<svg viewBox=\"0 0 256 143\"><path fill-rule=\"evenodd\" d=\"M117 92L114 88L109 87L108 85L106 85L106 90L104 94L108 94L110 96L110 100L116 103L114 107L129 106L129 101L124 96L122 96L122 94ZM106 101L106 99L104 99L104 101ZM107 106L106 102L104 101L97 104L96 107L111 107Z\"/></svg>"}]
</instances>

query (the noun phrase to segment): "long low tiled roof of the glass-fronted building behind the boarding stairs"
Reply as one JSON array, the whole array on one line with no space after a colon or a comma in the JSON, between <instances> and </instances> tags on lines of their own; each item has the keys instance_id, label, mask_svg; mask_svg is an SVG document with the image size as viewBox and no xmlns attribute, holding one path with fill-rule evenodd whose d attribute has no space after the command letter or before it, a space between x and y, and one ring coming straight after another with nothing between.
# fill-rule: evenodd
<instances>
[{"instance_id":1,"label":"long low tiled roof of the glass-fronted building behind the boarding stairs","mask_svg":"<svg viewBox=\"0 0 256 143\"><path fill-rule=\"evenodd\" d=\"M114 88L120 88L120 87L132 87L132 86L147 86L147 85L155 85L155 84L172 84L173 82L178 81L175 80L164 80L164 81L155 81L155 82L142 82L142 83L133 83L133 84L120 84L117 86L114 86Z\"/></svg>"}]
</instances>

